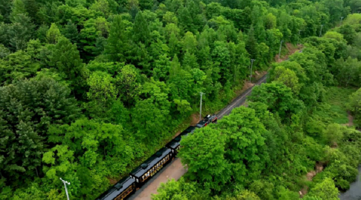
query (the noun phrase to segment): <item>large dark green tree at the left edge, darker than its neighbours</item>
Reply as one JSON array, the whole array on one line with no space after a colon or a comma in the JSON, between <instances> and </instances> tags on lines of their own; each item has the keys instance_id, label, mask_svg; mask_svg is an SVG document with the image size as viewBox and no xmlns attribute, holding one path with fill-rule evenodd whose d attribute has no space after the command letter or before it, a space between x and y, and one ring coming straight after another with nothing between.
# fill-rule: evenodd
<instances>
[{"instance_id":1,"label":"large dark green tree at the left edge, darker than its neighbours","mask_svg":"<svg viewBox=\"0 0 361 200\"><path fill-rule=\"evenodd\" d=\"M2 176L40 176L44 138L52 124L70 123L79 109L70 90L52 79L24 80L0 88ZM49 104L51 102L51 104Z\"/></svg>"}]
</instances>

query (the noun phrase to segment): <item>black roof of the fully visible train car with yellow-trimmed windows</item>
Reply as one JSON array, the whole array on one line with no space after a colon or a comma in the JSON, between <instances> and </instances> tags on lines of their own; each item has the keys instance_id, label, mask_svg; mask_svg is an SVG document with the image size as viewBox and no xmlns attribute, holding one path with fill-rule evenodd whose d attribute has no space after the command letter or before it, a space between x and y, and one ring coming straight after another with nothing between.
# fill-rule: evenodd
<instances>
[{"instance_id":1,"label":"black roof of the fully visible train car with yellow-trimmed windows","mask_svg":"<svg viewBox=\"0 0 361 200\"><path fill-rule=\"evenodd\" d=\"M134 169L132 172L130 172L131 175L135 177L141 177L143 176L148 170L150 170L156 163L158 163L160 160L165 158L169 153L171 153L171 149L167 147L163 147L159 149L155 154L150 156L143 164L138 166L136 169Z\"/></svg>"}]
</instances>

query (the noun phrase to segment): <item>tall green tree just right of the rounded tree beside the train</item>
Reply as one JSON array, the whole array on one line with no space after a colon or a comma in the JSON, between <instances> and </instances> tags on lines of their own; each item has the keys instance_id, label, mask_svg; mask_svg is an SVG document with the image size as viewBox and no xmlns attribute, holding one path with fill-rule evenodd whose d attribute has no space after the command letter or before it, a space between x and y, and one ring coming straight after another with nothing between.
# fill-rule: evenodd
<instances>
[{"instance_id":1,"label":"tall green tree just right of the rounded tree beside the train","mask_svg":"<svg viewBox=\"0 0 361 200\"><path fill-rule=\"evenodd\" d=\"M236 108L219 121L217 129L226 135L225 157L230 162L233 179L241 184L256 179L264 169L265 157L261 152L266 129L255 117L255 111Z\"/></svg>"}]
</instances>

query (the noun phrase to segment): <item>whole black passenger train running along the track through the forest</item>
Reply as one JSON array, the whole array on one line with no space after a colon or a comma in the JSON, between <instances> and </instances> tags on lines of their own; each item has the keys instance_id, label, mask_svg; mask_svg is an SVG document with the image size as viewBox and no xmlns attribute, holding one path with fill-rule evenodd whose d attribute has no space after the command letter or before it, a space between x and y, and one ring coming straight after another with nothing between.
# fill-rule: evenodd
<instances>
[{"instance_id":1,"label":"whole black passenger train running along the track through the forest","mask_svg":"<svg viewBox=\"0 0 361 200\"><path fill-rule=\"evenodd\" d=\"M163 166L170 163L178 154L180 141L182 137L192 134L195 129L207 126L210 123L216 123L216 115L207 115L195 126L189 126L179 136L169 142L165 147L159 149L146 161L130 172L130 176L118 181L115 185L105 191L95 200L122 200L135 193L151 177L156 174Z\"/></svg>"}]
</instances>

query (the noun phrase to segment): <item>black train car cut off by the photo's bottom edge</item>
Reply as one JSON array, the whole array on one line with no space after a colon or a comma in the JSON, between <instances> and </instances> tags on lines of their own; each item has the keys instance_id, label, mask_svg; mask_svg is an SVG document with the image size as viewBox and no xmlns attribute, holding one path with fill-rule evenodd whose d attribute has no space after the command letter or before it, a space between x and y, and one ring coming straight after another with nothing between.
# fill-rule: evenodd
<instances>
[{"instance_id":1,"label":"black train car cut off by the photo's bottom edge","mask_svg":"<svg viewBox=\"0 0 361 200\"><path fill-rule=\"evenodd\" d=\"M136 191L136 181L130 176L121 179L95 200L122 200Z\"/></svg>"}]
</instances>

